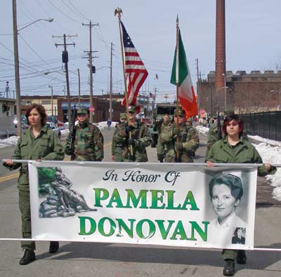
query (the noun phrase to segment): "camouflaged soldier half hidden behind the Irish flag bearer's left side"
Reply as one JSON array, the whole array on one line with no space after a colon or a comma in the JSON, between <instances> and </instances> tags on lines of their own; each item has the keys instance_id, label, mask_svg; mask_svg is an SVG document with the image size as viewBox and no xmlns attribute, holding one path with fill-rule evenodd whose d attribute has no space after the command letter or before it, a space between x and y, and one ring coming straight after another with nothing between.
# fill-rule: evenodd
<instances>
[{"instance_id":1,"label":"camouflaged soldier half hidden behind the Irish flag bearer's left side","mask_svg":"<svg viewBox=\"0 0 281 277\"><path fill-rule=\"evenodd\" d=\"M164 114L163 119L158 121L153 130L158 130L158 140L157 140L157 159L160 163L163 163L166 154L166 144L162 143L162 136L165 133L171 131L171 121L169 120L169 114Z\"/></svg>"}]
</instances>

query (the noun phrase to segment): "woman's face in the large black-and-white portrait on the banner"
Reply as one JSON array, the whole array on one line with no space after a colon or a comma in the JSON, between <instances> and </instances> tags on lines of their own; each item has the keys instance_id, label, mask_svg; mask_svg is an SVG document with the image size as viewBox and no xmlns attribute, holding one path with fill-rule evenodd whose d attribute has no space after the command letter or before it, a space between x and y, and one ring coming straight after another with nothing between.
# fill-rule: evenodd
<instances>
[{"instance_id":1,"label":"woman's face in the large black-and-white portrait on the banner","mask_svg":"<svg viewBox=\"0 0 281 277\"><path fill-rule=\"evenodd\" d=\"M215 184L211 203L216 215L218 215L218 221L221 222L235 210L240 201L231 195L230 187L226 184Z\"/></svg>"}]
</instances>

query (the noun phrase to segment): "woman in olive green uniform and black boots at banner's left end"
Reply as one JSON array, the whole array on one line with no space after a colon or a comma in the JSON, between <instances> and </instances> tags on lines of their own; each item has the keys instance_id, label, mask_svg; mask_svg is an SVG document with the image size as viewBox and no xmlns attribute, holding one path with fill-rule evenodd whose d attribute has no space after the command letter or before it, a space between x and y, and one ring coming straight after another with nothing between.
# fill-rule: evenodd
<instances>
[{"instance_id":1,"label":"woman in olive green uniform and black boots at banner's left end","mask_svg":"<svg viewBox=\"0 0 281 277\"><path fill-rule=\"evenodd\" d=\"M64 151L58 135L46 127L46 111L41 104L32 104L26 113L30 128L22 133L15 147L12 159L14 160L63 160ZM30 184L27 163L13 163L7 159L4 165L13 170L20 168L18 178L19 206L22 215L22 238L32 238L30 215ZM29 264L35 259L34 241L22 241L25 254L20 264ZM49 252L58 251L58 242L51 242Z\"/></svg>"}]
</instances>

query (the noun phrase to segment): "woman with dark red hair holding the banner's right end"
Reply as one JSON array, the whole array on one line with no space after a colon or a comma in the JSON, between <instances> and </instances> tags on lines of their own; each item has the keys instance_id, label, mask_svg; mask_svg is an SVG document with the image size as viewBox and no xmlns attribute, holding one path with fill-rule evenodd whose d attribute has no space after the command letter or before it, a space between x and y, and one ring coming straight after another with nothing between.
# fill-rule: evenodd
<instances>
[{"instance_id":1,"label":"woman with dark red hair holding the banner's right end","mask_svg":"<svg viewBox=\"0 0 281 277\"><path fill-rule=\"evenodd\" d=\"M207 154L207 166L213 167L214 163L263 163L259 152L254 146L244 140L243 121L237 114L226 116L223 121L223 139L218 140ZM270 163L264 163L258 168L259 176L274 174L276 168ZM223 275L233 276L235 274L235 259L237 264L246 264L247 257L244 250L223 250L225 266Z\"/></svg>"}]
</instances>

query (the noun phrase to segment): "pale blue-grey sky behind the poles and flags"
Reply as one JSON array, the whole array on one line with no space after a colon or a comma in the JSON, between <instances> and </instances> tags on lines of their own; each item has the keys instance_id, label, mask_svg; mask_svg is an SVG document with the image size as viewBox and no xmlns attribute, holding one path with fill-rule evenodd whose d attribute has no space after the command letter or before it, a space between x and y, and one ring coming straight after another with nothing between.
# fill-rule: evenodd
<instances>
[{"instance_id":1,"label":"pale blue-grey sky behind the poles and flags","mask_svg":"<svg viewBox=\"0 0 281 277\"><path fill-rule=\"evenodd\" d=\"M77 69L81 72L81 93L89 94L89 67L84 50L89 50L89 20L93 27L93 59L96 74L93 94L108 90L110 69L110 43L114 43L113 90L122 85L122 56L119 27L115 8L122 8L122 21L141 55L149 76L142 91L157 88L157 102L173 101L176 89L170 84L171 67L176 44L176 15L180 20L181 35L188 57L193 85L196 86L195 59L199 60L202 78L215 69L216 0L18 0L18 29L39 18L54 18L49 23L40 21L19 32L20 76L22 95L63 95L65 76L61 62L62 39L52 36L78 35L67 40L70 90L78 93ZM280 0L226 0L226 69L275 69L281 60L281 1ZM0 11L0 91L10 81L13 94L13 17L12 0L1 0ZM57 71L57 72L56 72ZM45 75L44 72L53 72ZM155 74L159 79L155 79Z\"/></svg>"}]
</instances>

